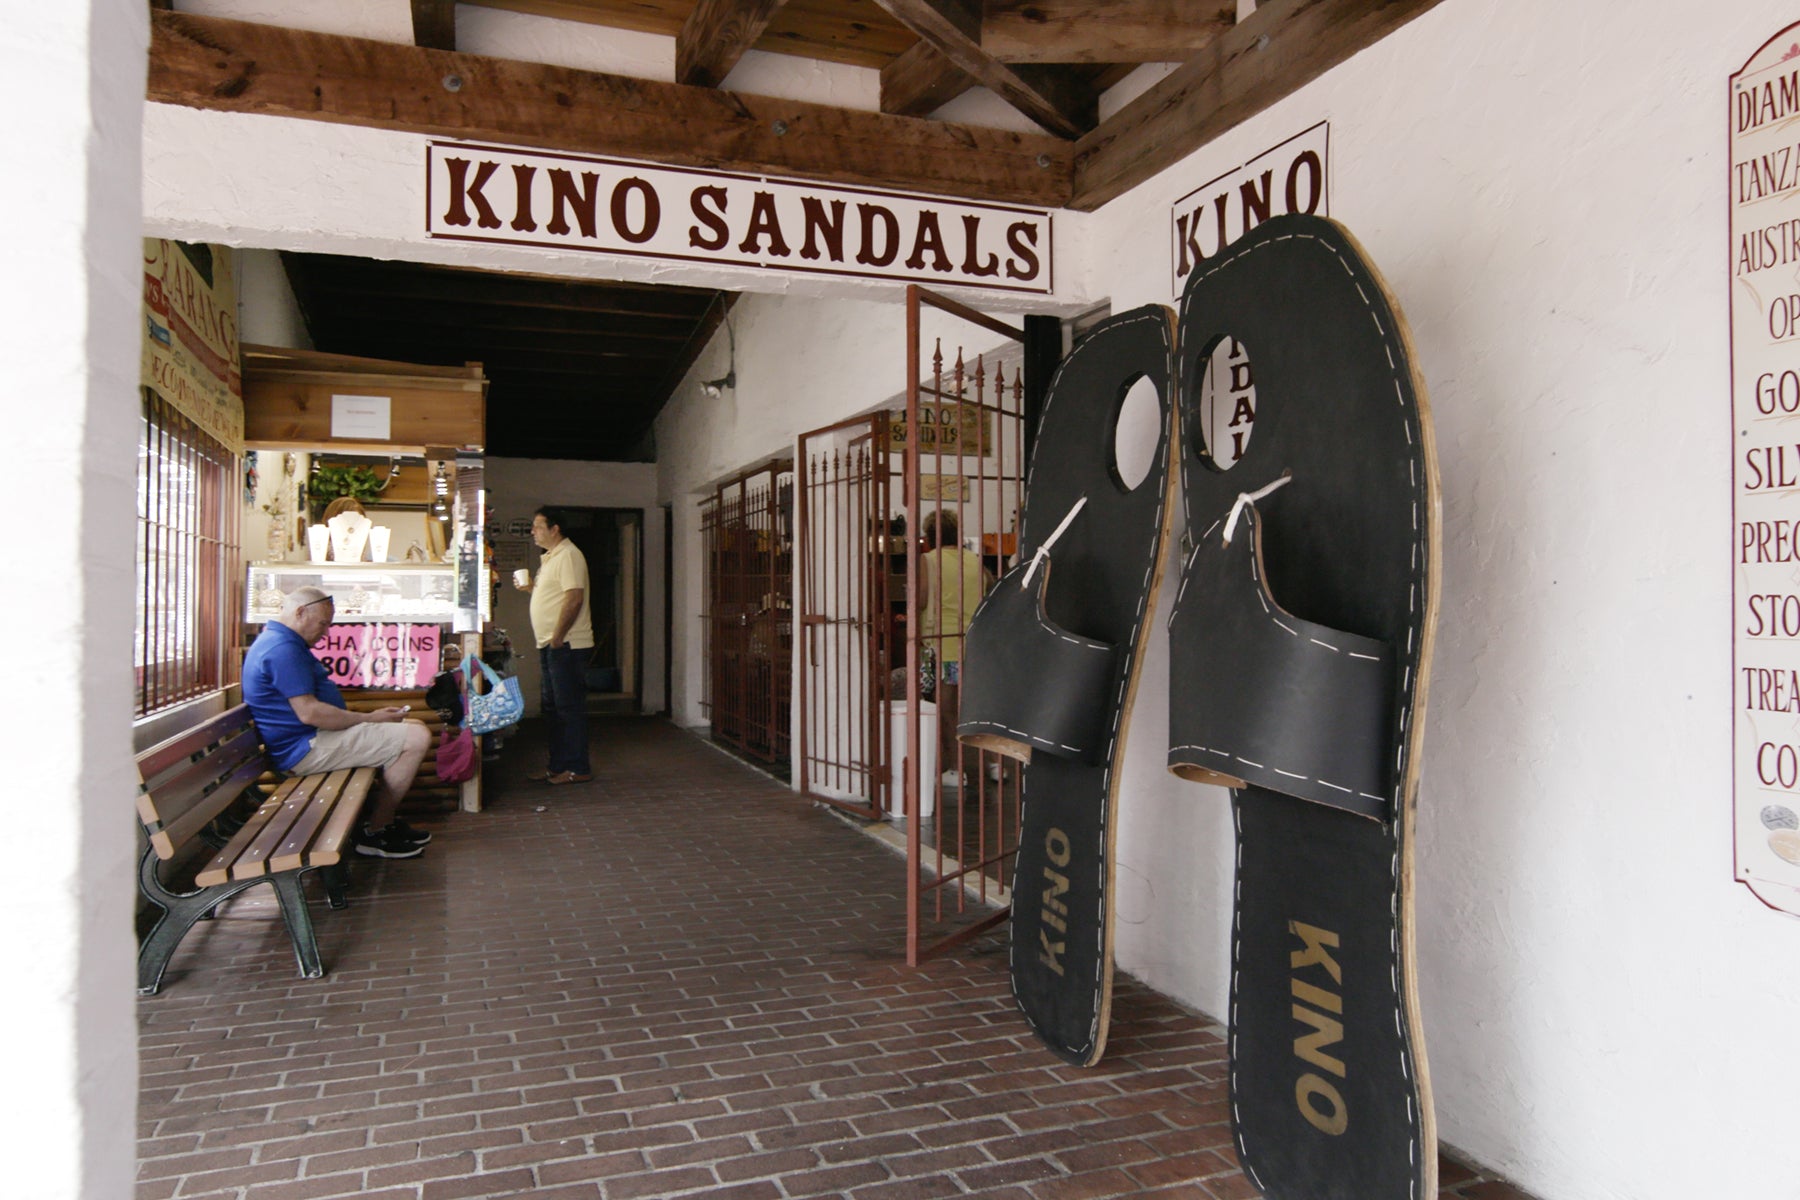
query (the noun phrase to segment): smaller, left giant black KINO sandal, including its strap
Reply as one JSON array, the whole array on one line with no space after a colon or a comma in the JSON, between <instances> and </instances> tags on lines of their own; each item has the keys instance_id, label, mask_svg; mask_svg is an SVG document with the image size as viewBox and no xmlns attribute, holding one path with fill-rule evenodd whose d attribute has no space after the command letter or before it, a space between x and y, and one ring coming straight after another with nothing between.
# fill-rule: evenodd
<instances>
[{"instance_id":1,"label":"smaller, left giant black KINO sandal, including its strap","mask_svg":"<svg viewBox=\"0 0 1800 1200\"><path fill-rule=\"evenodd\" d=\"M1127 488L1114 430L1130 385L1157 390L1148 473ZM1037 1034L1100 1060L1112 1006L1118 770L1166 552L1172 313L1121 313L1057 369L1019 520L1019 560L976 610L958 734L1022 770L1012 984Z\"/></svg>"}]
</instances>

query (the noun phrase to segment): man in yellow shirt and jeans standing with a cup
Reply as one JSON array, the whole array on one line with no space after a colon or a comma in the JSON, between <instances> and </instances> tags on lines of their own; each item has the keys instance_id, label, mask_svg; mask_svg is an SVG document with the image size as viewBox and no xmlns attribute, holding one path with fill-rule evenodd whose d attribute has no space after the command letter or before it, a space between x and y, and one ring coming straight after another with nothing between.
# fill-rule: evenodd
<instances>
[{"instance_id":1,"label":"man in yellow shirt and jeans standing with a cup","mask_svg":"<svg viewBox=\"0 0 1800 1200\"><path fill-rule=\"evenodd\" d=\"M551 761L531 779L587 783L587 660L594 649L594 622L587 608L587 558L563 536L562 509L542 507L531 518L531 540L544 551L531 592L531 631L538 640L542 711L551 730Z\"/></svg>"}]
</instances>

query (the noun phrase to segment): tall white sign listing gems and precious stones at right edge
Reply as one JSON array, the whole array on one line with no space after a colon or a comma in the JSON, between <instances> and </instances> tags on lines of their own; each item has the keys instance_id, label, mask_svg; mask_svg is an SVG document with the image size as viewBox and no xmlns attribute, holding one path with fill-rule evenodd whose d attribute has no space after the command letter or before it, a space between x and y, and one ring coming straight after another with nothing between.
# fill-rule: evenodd
<instances>
[{"instance_id":1,"label":"tall white sign listing gems and precious stones at right edge","mask_svg":"<svg viewBox=\"0 0 1800 1200\"><path fill-rule=\"evenodd\" d=\"M1800 916L1800 25L1730 81L1735 874Z\"/></svg>"}]
</instances>

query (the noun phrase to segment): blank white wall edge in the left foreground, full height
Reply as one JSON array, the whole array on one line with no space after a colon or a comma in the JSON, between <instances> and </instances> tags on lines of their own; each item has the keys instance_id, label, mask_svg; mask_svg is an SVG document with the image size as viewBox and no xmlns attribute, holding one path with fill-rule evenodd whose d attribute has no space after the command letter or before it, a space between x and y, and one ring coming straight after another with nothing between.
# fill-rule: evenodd
<instances>
[{"instance_id":1,"label":"blank white wall edge in the left foreground, full height","mask_svg":"<svg viewBox=\"0 0 1800 1200\"><path fill-rule=\"evenodd\" d=\"M0 500L18 520L0 563L14 660L0 729L23 853L0 923L7 1189L126 1200L137 1097L131 928L131 534L142 295L139 112L144 5L54 4L0 23L9 137L0 293L11 455ZM54 516L52 516L54 513ZM58 603L43 603L54 588ZM18 696L29 694L29 702Z\"/></svg>"}]
</instances>

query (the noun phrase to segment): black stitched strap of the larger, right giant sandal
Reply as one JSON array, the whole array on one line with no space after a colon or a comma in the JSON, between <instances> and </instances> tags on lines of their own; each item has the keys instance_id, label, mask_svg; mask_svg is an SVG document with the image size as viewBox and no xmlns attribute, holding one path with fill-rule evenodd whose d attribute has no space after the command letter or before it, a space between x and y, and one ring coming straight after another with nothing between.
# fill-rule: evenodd
<instances>
[{"instance_id":1,"label":"black stitched strap of the larger, right giant sandal","mask_svg":"<svg viewBox=\"0 0 1800 1200\"><path fill-rule=\"evenodd\" d=\"M1193 687L1170 711L1168 768L1386 820L1393 649L1283 612L1249 513L1229 545L1195 547L1170 617L1172 676Z\"/></svg>"}]
</instances>

